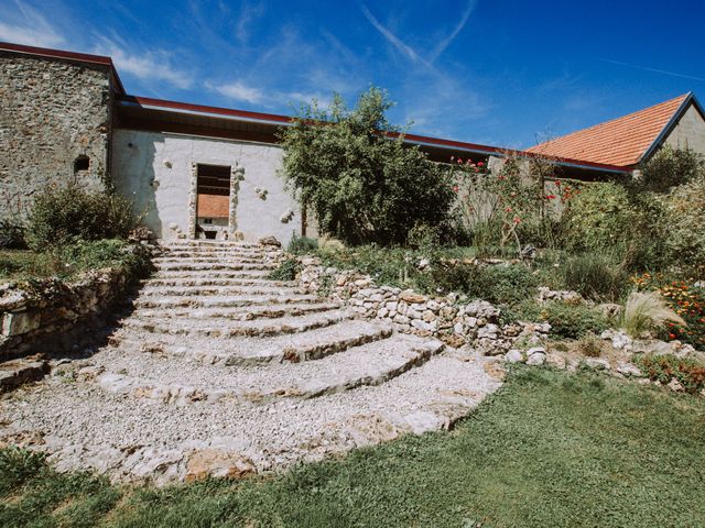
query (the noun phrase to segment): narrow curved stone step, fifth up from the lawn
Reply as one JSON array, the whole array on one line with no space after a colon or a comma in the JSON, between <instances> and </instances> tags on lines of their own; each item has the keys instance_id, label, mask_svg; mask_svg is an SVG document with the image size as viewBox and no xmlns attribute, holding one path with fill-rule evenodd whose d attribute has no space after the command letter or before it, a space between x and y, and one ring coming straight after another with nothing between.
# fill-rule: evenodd
<instances>
[{"instance_id":1,"label":"narrow curved stone step, fifth up from the lawn","mask_svg":"<svg viewBox=\"0 0 705 528\"><path fill-rule=\"evenodd\" d=\"M304 316L322 311L337 310L337 302L291 304L247 306L235 308L172 308L172 309L140 309L133 312L134 317L142 318L187 318L187 319L226 319L232 321L250 321L253 319L275 319L286 316Z\"/></svg>"}]
</instances>

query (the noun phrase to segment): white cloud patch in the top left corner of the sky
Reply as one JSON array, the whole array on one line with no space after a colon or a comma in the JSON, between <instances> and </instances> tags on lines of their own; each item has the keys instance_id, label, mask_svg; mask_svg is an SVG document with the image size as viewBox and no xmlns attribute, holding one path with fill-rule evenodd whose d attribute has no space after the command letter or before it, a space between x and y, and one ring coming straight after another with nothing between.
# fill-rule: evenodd
<instances>
[{"instance_id":1,"label":"white cloud patch in the top left corner of the sky","mask_svg":"<svg viewBox=\"0 0 705 528\"><path fill-rule=\"evenodd\" d=\"M39 11L15 0L17 11L3 10L0 14L0 41L29 44L40 47L56 47L66 38Z\"/></svg>"}]
</instances>

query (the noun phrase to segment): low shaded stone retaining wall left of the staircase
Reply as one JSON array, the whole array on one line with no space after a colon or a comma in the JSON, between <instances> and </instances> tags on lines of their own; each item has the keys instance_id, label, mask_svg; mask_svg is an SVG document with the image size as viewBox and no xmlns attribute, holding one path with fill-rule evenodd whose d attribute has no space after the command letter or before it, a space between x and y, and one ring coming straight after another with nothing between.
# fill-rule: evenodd
<instances>
[{"instance_id":1,"label":"low shaded stone retaining wall left of the staircase","mask_svg":"<svg viewBox=\"0 0 705 528\"><path fill-rule=\"evenodd\" d=\"M101 316L130 283L127 271L105 268L73 283L46 278L0 285L0 360L65 349L70 343L64 334Z\"/></svg>"}]
</instances>

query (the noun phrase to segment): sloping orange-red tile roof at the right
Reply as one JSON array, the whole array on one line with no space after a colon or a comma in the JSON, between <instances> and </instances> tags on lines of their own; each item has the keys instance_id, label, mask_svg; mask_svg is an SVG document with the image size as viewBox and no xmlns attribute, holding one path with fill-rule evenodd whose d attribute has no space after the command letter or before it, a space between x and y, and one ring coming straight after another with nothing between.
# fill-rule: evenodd
<instances>
[{"instance_id":1,"label":"sloping orange-red tile roof at the right","mask_svg":"<svg viewBox=\"0 0 705 528\"><path fill-rule=\"evenodd\" d=\"M676 97L622 118L550 140L527 152L629 167L639 163L688 98Z\"/></svg>"}]
</instances>

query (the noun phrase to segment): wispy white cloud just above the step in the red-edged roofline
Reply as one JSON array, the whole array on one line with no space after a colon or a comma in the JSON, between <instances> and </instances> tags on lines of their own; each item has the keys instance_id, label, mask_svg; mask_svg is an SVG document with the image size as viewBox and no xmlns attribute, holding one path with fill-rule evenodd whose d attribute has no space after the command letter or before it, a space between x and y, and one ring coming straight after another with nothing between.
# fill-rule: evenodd
<instances>
[{"instance_id":1,"label":"wispy white cloud just above the step in the red-edged roofline","mask_svg":"<svg viewBox=\"0 0 705 528\"><path fill-rule=\"evenodd\" d=\"M130 50L130 51L128 51ZM182 90L193 86L193 75L173 64L170 53L164 51L131 51L123 41L99 37L96 53L112 57L118 72L126 72L143 81L167 82Z\"/></svg>"}]
</instances>

